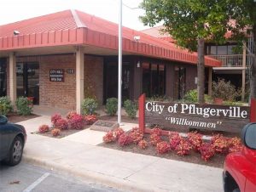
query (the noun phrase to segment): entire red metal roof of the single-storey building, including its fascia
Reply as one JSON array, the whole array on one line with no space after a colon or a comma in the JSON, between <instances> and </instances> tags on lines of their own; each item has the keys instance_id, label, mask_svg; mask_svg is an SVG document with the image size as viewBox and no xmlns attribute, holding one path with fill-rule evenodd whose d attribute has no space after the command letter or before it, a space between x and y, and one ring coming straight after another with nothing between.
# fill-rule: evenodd
<instances>
[{"instance_id":1,"label":"entire red metal roof of the single-storey building, including its fascia","mask_svg":"<svg viewBox=\"0 0 256 192\"><path fill-rule=\"evenodd\" d=\"M14 36L15 30L20 31L20 35ZM141 37L139 42L134 41L134 36ZM83 44L118 49L118 25L78 10L0 25L0 50ZM197 63L196 53L127 27L123 28L123 50L131 54ZM206 65L220 66L221 63L206 57Z\"/></svg>"}]
</instances>

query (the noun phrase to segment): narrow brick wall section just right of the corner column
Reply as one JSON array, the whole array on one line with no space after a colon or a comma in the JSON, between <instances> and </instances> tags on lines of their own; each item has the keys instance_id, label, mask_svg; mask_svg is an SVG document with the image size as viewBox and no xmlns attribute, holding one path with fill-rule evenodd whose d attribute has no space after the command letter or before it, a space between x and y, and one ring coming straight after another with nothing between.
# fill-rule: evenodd
<instances>
[{"instance_id":1,"label":"narrow brick wall section just right of the corner column","mask_svg":"<svg viewBox=\"0 0 256 192\"><path fill-rule=\"evenodd\" d=\"M103 58L84 55L84 98L92 97L103 103Z\"/></svg>"}]
</instances>

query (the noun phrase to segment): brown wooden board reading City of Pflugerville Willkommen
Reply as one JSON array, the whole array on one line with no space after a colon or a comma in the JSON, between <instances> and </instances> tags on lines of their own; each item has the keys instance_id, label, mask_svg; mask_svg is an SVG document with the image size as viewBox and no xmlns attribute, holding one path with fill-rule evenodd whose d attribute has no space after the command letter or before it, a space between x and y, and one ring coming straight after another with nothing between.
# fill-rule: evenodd
<instances>
[{"instance_id":1,"label":"brown wooden board reading City of Pflugerville Willkommen","mask_svg":"<svg viewBox=\"0 0 256 192\"><path fill-rule=\"evenodd\" d=\"M246 106L148 101L145 103L145 121L164 127L239 133L249 122L249 110Z\"/></svg>"}]
</instances>

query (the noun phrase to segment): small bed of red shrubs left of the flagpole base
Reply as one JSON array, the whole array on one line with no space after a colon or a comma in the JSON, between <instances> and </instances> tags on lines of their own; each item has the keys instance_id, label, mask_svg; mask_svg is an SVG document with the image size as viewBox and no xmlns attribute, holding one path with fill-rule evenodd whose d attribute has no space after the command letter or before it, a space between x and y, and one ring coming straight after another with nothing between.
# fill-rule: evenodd
<instances>
[{"instance_id":1,"label":"small bed of red shrubs left of the flagpole base","mask_svg":"<svg viewBox=\"0 0 256 192\"><path fill-rule=\"evenodd\" d=\"M90 125L97 121L97 117L96 115L82 116L75 111L70 111L66 117L54 114L51 116L50 121L52 126L41 125L38 127L38 133L49 137L63 138L90 127Z\"/></svg>"}]
</instances>

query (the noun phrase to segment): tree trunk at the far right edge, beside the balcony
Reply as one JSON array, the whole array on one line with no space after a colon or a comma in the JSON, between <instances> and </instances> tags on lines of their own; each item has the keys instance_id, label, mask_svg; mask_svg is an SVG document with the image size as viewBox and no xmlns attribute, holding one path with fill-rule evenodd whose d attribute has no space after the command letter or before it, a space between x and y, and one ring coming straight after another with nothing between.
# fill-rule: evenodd
<instances>
[{"instance_id":1,"label":"tree trunk at the far right edge, beside the balcony","mask_svg":"<svg viewBox=\"0 0 256 192\"><path fill-rule=\"evenodd\" d=\"M256 99L256 24L253 25L253 64L251 66L251 98Z\"/></svg>"}]
</instances>

